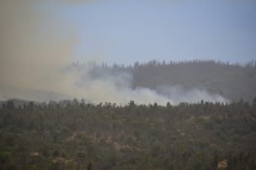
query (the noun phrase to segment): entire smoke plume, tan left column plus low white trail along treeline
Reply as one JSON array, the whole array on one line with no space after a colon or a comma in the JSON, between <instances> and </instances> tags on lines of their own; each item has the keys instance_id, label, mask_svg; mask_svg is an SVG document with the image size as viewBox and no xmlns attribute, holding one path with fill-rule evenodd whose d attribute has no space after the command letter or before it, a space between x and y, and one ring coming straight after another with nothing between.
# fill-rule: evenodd
<instances>
[{"instance_id":1,"label":"entire smoke plume, tan left column plus low white trail along treeline","mask_svg":"<svg viewBox=\"0 0 256 170\"><path fill-rule=\"evenodd\" d=\"M163 93L146 88L131 88L128 73L92 76L92 67L72 70L74 47L79 43L79 28L56 16L52 9L40 10L39 3L47 1L3 0L0 2L0 100L21 98L28 100L88 99L95 103L116 102L153 103L168 101L204 100L226 101L206 91L193 90L184 95L175 88ZM98 1L49 1L94 3ZM159 91L158 91L159 92ZM191 96L197 96L191 98ZM188 100L189 99L189 100Z\"/></svg>"}]
</instances>

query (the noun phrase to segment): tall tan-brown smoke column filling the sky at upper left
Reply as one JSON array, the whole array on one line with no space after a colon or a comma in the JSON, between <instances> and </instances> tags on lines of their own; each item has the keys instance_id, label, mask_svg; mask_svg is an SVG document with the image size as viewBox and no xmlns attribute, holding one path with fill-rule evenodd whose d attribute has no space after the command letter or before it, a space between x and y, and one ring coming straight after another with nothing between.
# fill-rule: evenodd
<instances>
[{"instance_id":1,"label":"tall tan-brown smoke column filling the sky at upper left","mask_svg":"<svg viewBox=\"0 0 256 170\"><path fill-rule=\"evenodd\" d=\"M59 70L72 62L77 43L72 31L53 12L36 10L39 1L0 3L1 84L57 90L67 84ZM59 82L59 84L56 84Z\"/></svg>"}]
</instances>

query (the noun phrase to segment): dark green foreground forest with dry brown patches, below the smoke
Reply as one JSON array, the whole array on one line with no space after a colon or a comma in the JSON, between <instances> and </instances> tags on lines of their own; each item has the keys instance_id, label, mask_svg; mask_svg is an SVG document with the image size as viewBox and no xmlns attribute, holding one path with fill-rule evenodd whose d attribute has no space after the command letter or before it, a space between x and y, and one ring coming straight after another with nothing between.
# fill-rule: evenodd
<instances>
[{"instance_id":1,"label":"dark green foreground forest with dry brown patches, below the smoke","mask_svg":"<svg viewBox=\"0 0 256 170\"><path fill-rule=\"evenodd\" d=\"M0 169L256 169L256 98L159 106L7 100Z\"/></svg>"}]
</instances>

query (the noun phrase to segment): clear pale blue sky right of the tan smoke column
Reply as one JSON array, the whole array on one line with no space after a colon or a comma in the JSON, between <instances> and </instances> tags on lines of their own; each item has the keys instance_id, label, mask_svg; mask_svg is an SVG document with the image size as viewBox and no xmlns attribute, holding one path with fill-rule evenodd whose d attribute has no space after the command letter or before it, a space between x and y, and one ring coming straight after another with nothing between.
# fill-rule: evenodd
<instances>
[{"instance_id":1,"label":"clear pale blue sky right of the tan smoke column","mask_svg":"<svg viewBox=\"0 0 256 170\"><path fill-rule=\"evenodd\" d=\"M79 29L78 61L256 59L253 0L106 0L56 9Z\"/></svg>"}]
</instances>

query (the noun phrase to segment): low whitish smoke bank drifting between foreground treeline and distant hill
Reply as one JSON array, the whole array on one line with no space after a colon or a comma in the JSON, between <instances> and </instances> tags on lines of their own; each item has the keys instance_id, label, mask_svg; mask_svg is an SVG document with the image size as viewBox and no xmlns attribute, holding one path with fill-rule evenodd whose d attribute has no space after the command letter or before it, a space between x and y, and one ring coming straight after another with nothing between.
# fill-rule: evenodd
<instances>
[{"instance_id":1,"label":"low whitish smoke bank drifting between foreground treeline and distant hill","mask_svg":"<svg viewBox=\"0 0 256 170\"><path fill-rule=\"evenodd\" d=\"M86 67L79 71L73 71L73 73L78 75L77 87L84 90L88 99L97 102L128 103L130 100L135 100L138 104L157 102L160 105L166 105L167 102L177 105L180 102L193 103L200 102L200 100L228 102L221 95L211 95L207 90L196 88L184 90L180 85L159 86L157 90L139 87L133 89L133 77L125 71Z\"/></svg>"}]
</instances>

